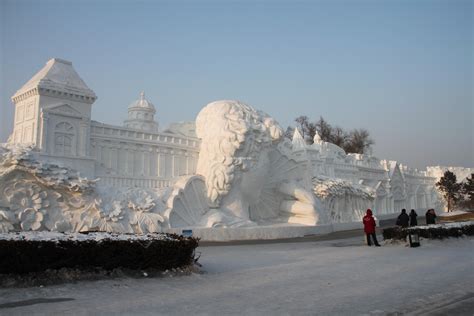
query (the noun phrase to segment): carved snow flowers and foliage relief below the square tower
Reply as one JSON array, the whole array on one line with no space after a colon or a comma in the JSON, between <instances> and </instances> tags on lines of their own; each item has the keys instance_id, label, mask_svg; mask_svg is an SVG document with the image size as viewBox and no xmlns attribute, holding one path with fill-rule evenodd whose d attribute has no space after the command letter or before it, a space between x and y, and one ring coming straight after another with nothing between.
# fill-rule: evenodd
<instances>
[{"instance_id":1,"label":"carved snow flowers and foliage relief below the square tower","mask_svg":"<svg viewBox=\"0 0 474 316\"><path fill-rule=\"evenodd\" d=\"M0 231L161 230L166 206L158 194L95 182L41 161L30 146L0 146Z\"/></svg>"}]
</instances>

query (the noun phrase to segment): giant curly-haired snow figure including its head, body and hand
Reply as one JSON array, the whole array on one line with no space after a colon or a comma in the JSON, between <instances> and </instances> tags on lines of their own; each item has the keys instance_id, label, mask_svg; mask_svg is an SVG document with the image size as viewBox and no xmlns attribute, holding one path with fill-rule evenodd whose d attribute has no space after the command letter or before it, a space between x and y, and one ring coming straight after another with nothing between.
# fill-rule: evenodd
<instances>
[{"instance_id":1,"label":"giant curly-haired snow figure including its head, body and hand","mask_svg":"<svg viewBox=\"0 0 474 316\"><path fill-rule=\"evenodd\" d=\"M318 222L302 172L278 146L283 131L267 114L238 101L212 102L198 114L196 133L201 139L197 173L223 217L239 226Z\"/></svg>"}]
</instances>

